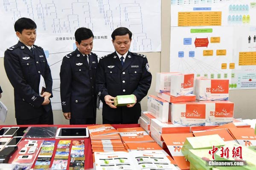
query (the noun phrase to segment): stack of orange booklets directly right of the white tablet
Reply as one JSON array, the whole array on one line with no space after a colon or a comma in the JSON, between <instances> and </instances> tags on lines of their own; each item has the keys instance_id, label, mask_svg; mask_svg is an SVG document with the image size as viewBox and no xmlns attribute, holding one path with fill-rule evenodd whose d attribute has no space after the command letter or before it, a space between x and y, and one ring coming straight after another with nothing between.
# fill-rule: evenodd
<instances>
[{"instance_id":1,"label":"stack of orange booklets directly right of the white tablet","mask_svg":"<svg viewBox=\"0 0 256 170\"><path fill-rule=\"evenodd\" d=\"M119 132L111 125L88 126L93 152L124 151Z\"/></svg>"}]
</instances>

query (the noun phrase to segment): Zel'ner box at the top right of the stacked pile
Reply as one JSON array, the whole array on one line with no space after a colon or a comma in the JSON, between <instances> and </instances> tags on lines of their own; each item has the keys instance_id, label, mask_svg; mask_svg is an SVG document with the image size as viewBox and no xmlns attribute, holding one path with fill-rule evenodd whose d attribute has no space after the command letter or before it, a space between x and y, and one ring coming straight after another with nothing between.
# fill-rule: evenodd
<instances>
[{"instance_id":1,"label":"Zel'ner box at the top right of the stacked pile","mask_svg":"<svg viewBox=\"0 0 256 170\"><path fill-rule=\"evenodd\" d=\"M229 80L198 77L195 80L195 95L198 100L228 100Z\"/></svg>"}]
</instances>

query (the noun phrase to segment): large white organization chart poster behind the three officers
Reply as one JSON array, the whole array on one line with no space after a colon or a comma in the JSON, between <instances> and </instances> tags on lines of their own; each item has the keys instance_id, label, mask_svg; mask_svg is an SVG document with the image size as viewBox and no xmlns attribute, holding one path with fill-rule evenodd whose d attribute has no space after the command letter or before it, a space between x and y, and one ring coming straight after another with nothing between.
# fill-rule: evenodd
<instances>
[{"instance_id":1,"label":"large white organization chart poster behind the three officers","mask_svg":"<svg viewBox=\"0 0 256 170\"><path fill-rule=\"evenodd\" d=\"M111 34L120 26L133 33L131 52L161 51L161 0L1 0L0 16L0 57L18 41L14 31L16 20L29 17L37 24L35 45L44 48L52 71L54 110L61 109L61 61L76 49L77 28L93 31L93 52L98 57L114 51Z\"/></svg>"}]
</instances>

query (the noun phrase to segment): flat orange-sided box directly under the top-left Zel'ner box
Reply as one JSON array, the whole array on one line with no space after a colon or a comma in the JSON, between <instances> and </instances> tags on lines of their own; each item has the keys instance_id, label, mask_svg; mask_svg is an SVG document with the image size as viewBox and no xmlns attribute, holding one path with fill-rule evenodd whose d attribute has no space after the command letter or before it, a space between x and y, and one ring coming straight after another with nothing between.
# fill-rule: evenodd
<instances>
[{"instance_id":1,"label":"flat orange-sided box directly under the top-left Zel'ner box","mask_svg":"<svg viewBox=\"0 0 256 170\"><path fill-rule=\"evenodd\" d=\"M171 96L169 92L157 93L157 97L164 99L167 102L195 102L195 94L186 96Z\"/></svg>"}]
</instances>

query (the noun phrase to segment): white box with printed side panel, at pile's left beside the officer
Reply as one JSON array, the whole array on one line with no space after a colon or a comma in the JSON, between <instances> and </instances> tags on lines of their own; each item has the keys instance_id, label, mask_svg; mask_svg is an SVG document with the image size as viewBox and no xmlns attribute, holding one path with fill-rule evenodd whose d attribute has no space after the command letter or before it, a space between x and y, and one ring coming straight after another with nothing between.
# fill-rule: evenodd
<instances>
[{"instance_id":1,"label":"white box with printed side panel, at pile's left beside the officer","mask_svg":"<svg viewBox=\"0 0 256 170\"><path fill-rule=\"evenodd\" d=\"M169 102L157 96L148 96L148 112L161 122L168 122Z\"/></svg>"}]
</instances>

